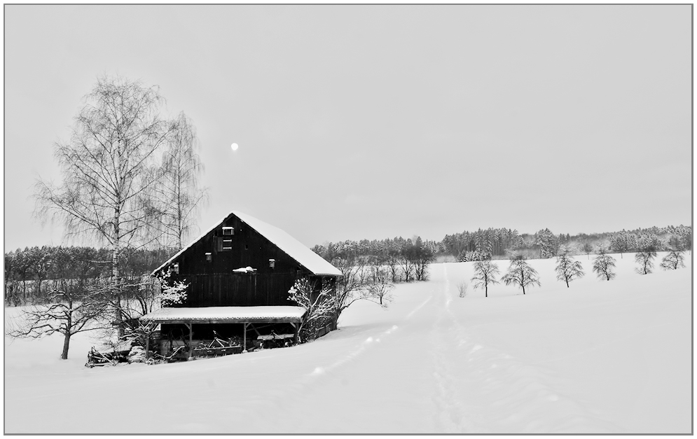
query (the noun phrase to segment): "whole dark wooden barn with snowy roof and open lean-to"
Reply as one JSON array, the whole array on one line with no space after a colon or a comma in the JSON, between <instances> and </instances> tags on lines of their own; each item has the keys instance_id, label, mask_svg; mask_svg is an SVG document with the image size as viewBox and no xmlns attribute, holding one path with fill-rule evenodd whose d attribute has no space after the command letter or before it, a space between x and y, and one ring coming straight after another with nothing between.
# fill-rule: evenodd
<instances>
[{"instance_id":1,"label":"whole dark wooden barn with snowy roof and open lean-to","mask_svg":"<svg viewBox=\"0 0 697 439\"><path fill-rule=\"evenodd\" d=\"M297 279L328 281L341 272L283 230L233 211L153 271L188 284L186 299L141 320L160 323L163 341L294 333L305 309L288 300ZM326 330L333 328L328 327ZM187 340L188 339L188 340ZM164 346L163 346L164 347Z\"/></svg>"}]
</instances>

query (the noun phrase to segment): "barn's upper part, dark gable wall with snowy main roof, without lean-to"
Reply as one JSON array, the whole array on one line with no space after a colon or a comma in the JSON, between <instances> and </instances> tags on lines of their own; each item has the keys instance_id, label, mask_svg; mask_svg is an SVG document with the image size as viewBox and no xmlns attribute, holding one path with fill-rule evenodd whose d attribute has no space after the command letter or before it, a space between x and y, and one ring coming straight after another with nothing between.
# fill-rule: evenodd
<instances>
[{"instance_id":1,"label":"barn's upper part, dark gable wall with snowy main roof, without lean-to","mask_svg":"<svg viewBox=\"0 0 697 439\"><path fill-rule=\"evenodd\" d=\"M253 272L243 271L251 267ZM189 284L181 307L292 305L288 290L301 277L335 282L341 272L268 223L233 211L163 265ZM234 270L237 270L235 272Z\"/></svg>"}]
</instances>

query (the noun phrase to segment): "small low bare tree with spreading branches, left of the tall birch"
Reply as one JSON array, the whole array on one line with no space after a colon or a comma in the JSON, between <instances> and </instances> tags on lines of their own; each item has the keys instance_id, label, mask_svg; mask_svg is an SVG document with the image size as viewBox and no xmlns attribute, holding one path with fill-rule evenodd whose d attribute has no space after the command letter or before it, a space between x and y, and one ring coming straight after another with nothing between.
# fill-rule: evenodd
<instances>
[{"instance_id":1,"label":"small low bare tree with spreading branches, left of the tall birch","mask_svg":"<svg viewBox=\"0 0 697 439\"><path fill-rule=\"evenodd\" d=\"M63 335L60 358L67 360L70 337L88 330L104 328L106 312L102 292L76 294L69 286L52 291L42 305L33 305L22 312L17 327L8 333L11 337L40 338L59 333ZM97 324L95 324L97 323Z\"/></svg>"}]
</instances>

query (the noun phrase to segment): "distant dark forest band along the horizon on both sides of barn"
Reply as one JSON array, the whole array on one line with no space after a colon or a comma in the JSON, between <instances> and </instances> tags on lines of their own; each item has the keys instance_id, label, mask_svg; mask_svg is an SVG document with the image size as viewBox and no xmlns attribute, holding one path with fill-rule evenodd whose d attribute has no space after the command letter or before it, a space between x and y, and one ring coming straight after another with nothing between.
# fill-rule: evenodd
<instances>
[{"instance_id":1,"label":"distant dark forest band along the horizon on both sides of barn","mask_svg":"<svg viewBox=\"0 0 697 439\"><path fill-rule=\"evenodd\" d=\"M560 249L570 254L598 253L600 249L612 253L628 253L637 246L650 246L655 251L692 248L692 228L678 225L647 229L622 230L579 235L555 235L545 228L534 234L518 233L505 228L479 229L446 235L440 242L422 240L420 237L387 239L361 239L343 242L326 242L312 250L330 261L349 260L352 263L368 261L392 267L392 281L424 280L425 263L437 261L471 261L507 259L522 255L528 259L553 258ZM124 249L118 258L119 272L127 284L143 288L144 279L177 248ZM5 302L23 305L46 295L52 288L64 288L66 283L99 284L109 279L111 249L95 249L85 246L34 246L5 253ZM406 272L406 279L399 279L396 265ZM410 268L414 275L410 278ZM405 268L406 267L406 268ZM420 279L423 274L424 279ZM404 277L404 276L402 276Z\"/></svg>"}]
</instances>

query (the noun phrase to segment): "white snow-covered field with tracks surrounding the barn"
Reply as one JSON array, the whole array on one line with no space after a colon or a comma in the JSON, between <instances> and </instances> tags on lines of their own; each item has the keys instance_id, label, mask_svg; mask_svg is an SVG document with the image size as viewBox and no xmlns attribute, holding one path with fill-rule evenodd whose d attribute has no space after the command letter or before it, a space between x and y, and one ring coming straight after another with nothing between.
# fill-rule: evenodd
<instances>
[{"instance_id":1,"label":"white snow-covered field with tracks surrounding the barn","mask_svg":"<svg viewBox=\"0 0 697 439\"><path fill-rule=\"evenodd\" d=\"M541 287L488 298L458 297L471 263L434 264L316 342L188 363L88 369L88 335L67 361L6 337L5 433L691 433L691 256L615 256L613 281L532 260Z\"/></svg>"}]
</instances>

